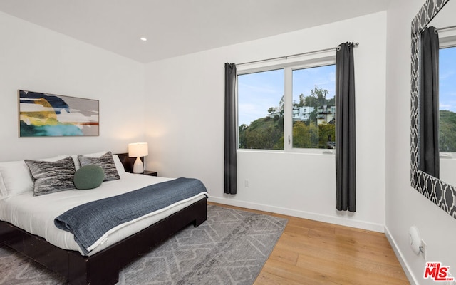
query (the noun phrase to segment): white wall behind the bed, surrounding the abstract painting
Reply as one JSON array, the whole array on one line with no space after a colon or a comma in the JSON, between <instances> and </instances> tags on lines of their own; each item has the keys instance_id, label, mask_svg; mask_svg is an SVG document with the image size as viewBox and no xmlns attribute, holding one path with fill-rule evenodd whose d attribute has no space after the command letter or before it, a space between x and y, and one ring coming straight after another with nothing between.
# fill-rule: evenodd
<instances>
[{"instance_id":1,"label":"white wall behind the bed, surrounding the abstract painting","mask_svg":"<svg viewBox=\"0 0 456 285\"><path fill-rule=\"evenodd\" d=\"M17 90L100 100L100 136L18 138ZM99 150L144 138L144 65L0 13L0 161Z\"/></svg>"}]
</instances>

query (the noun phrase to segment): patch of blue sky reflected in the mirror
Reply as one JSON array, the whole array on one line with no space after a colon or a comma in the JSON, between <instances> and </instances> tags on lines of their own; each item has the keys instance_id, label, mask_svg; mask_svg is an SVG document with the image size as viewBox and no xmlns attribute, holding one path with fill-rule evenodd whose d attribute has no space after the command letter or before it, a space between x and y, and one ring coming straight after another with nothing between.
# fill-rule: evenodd
<instances>
[{"instance_id":1,"label":"patch of blue sky reflected in the mirror","mask_svg":"<svg viewBox=\"0 0 456 285\"><path fill-rule=\"evenodd\" d=\"M456 112L456 47L440 49L439 78L440 110Z\"/></svg>"}]
</instances>

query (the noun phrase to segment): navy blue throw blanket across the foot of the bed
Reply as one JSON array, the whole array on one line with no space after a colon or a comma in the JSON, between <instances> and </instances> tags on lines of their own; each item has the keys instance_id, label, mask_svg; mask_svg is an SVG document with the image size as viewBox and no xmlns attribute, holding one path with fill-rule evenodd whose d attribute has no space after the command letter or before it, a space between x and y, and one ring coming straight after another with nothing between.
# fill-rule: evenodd
<instances>
[{"instance_id":1,"label":"navy blue throw blanket across the foot of the bed","mask_svg":"<svg viewBox=\"0 0 456 285\"><path fill-rule=\"evenodd\" d=\"M165 208L182 199L207 192L201 181L177 178L69 209L56 219L59 229L74 234L84 254L113 227Z\"/></svg>"}]
</instances>

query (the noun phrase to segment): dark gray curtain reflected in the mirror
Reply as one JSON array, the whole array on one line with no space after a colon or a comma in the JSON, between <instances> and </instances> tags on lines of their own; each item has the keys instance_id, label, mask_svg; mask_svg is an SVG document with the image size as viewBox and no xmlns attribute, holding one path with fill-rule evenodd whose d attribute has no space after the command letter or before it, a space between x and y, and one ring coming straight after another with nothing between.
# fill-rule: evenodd
<instances>
[{"instance_id":1,"label":"dark gray curtain reflected in the mirror","mask_svg":"<svg viewBox=\"0 0 456 285\"><path fill-rule=\"evenodd\" d=\"M439 178L439 36L425 28L420 41L420 170Z\"/></svg>"}]
</instances>

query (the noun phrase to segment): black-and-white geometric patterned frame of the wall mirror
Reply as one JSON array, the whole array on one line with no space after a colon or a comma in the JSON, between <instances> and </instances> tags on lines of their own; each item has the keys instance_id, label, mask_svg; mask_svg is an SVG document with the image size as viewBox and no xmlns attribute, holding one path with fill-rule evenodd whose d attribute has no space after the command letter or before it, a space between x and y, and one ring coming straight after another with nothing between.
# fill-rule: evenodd
<instances>
[{"instance_id":1,"label":"black-and-white geometric patterned frame of the wall mirror","mask_svg":"<svg viewBox=\"0 0 456 285\"><path fill-rule=\"evenodd\" d=\"M411 68L411 185L427 199L456 219L456 189L442 180L418 170L418 135L420 128L420 32L429 24L440 9L450 0L427 0L412 21L412 68Z\"/></svg>"}]
</instances>

